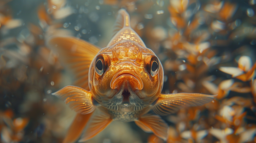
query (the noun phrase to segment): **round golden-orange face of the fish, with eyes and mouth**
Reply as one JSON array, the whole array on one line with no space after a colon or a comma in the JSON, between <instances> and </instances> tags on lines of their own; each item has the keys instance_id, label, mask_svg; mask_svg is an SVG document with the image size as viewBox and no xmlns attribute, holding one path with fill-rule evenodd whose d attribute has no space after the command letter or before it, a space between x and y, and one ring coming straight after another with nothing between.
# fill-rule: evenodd
<instances>
[{"instance_id":1,"label":"round golden-orange face of the fish, with eyes and mouth","mask_svg":"<svg viewBox=\"0 0 256 143\"><path fill-rule=\"evenodd\" d=\"M153 51L125 40L103 48L91 64L90 90L108 109L142 110L161 93L163 67Z\"/></svg>"}]
</instances>

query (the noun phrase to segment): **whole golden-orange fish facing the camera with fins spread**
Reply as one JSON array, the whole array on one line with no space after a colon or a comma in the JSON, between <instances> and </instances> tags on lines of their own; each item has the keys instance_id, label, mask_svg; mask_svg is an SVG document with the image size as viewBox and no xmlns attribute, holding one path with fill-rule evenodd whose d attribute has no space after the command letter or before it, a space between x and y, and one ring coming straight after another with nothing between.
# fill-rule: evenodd
<instances>
[{"instance_id":1,"label":"whole golden-orange fish facing the camera with fins spread","mask_svg":"<svg viewBox=\"0 0 256 143\"><path fill-rule=\"evenodd\" d=\"M118 11L114 36L105 48L76 37L51 37L60 61L76 76L55 95L77 115L63 143L84 142L112 121L134 121L143 131L166 140L168 124L161 116L211 102L215 96L200 93L162 94L163 66L131 28L125 9Z\"/></svg>"}]
</instances>

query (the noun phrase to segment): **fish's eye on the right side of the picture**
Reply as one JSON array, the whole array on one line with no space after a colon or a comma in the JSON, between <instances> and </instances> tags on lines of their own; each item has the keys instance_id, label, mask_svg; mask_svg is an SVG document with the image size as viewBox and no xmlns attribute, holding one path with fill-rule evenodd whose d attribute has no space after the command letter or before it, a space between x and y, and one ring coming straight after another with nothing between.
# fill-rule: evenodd
<instances>
[{"instance_id":1,"label":"fish's eye on the right side of the picture","mask_svg":"<svg viewBox=\"0 0 256 143\"><path fill-rule=\"evenodd\" d=\"M147 55L145 58L145 66L152 77L156 76L159 69L157 57L154 55Z\"/></svg>"}]
</instances>

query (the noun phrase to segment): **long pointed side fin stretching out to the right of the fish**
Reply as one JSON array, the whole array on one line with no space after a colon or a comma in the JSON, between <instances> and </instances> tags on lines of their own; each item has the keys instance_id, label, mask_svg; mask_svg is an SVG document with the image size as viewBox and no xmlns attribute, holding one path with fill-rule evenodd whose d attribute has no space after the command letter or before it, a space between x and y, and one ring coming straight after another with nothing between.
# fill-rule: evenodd
<instances>
[{"instance_id":1,"label":"long pointed side fin stretching out to the right of the fish","mask_svg":"<svg viewBox=\"0 0 256 143\"><path fill-rule=\"evenodd\" d=\"M199 93L161 94L153 111L158 115L169 115L184 107L204 105L214 97Z\"/></svg>"}]
</instances>

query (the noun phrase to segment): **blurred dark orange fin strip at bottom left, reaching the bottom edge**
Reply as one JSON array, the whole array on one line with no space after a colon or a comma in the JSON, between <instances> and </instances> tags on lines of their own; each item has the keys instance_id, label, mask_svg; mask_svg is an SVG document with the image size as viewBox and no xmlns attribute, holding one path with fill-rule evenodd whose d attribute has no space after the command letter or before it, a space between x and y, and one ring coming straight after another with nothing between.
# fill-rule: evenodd
<instances>
[{"instance_id":1,"label":"blurred dark orange fin strip at bottom left, reaching the bottom edge","mask_svg":"<svg viewBox=\"0 0 256 143\"><path fill-rule=\"evenodd\" d=\"M83 129L86 126L91 115L92 115L92 113L89 113L86 115L78 113L76 118L74 119L73 123L69 127L68 133L62 143L76 142L79 139L79 137L81 136Z\"/></svg>"}]
</instances>

